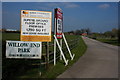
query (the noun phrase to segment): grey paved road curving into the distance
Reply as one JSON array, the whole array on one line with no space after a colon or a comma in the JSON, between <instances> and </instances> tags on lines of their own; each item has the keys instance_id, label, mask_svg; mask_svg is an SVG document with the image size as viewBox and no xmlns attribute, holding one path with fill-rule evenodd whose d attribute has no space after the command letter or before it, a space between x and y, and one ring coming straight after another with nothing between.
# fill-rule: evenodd
<instances>
[{"instance_id":1,"label":"grey paved road curving into the distance","mask_svg":"<svg viewBox=\"0 0 120 80\"><path fill-rule=\"evenodd\" d=\"M118 78L118 47L83 37L88 48L57 78Z\"/></svg>"}]
</instances>

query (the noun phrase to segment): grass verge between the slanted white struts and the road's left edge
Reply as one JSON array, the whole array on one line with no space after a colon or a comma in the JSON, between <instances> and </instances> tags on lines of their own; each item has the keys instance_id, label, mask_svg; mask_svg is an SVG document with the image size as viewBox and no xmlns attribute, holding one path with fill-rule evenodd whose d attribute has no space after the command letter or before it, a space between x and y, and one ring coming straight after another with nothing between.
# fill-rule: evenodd
<instances>
[{"instance_id":1,"label":"grass verge between the slanted white struts and the road's left edge","mask_svg":"<svg viewBox=\"0 0 120 80\"><path fill-rule=\"evenodd\" d=\"M69 65L64 66L62 61L58 61L56 66L51 66L50 69L42 76L43 78L56 78L58 75L63 73L65 70L70 68L86 51L87 46L80 37L80 41L76 48L72 50L72 53L75 54L73 61L69 60ZM52 73L52 74L51 74Z\"/></svg>"}]
</instances>

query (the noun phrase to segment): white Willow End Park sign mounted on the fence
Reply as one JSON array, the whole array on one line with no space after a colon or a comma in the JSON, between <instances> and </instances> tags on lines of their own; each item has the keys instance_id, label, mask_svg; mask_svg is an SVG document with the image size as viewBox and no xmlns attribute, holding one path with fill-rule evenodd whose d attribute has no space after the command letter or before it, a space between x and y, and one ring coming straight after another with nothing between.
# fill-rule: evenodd
<instances>
[{"instance_id":1,"label":"white Willow End Park sign mounted on the fence","mask_svg":"<svg viewBox=\"0 0 120 80\"><path fill-rule=\"evenodd\" d=\"M6 58L41 59L41 42L6 41Z\"/></svg>"}]
</instances>

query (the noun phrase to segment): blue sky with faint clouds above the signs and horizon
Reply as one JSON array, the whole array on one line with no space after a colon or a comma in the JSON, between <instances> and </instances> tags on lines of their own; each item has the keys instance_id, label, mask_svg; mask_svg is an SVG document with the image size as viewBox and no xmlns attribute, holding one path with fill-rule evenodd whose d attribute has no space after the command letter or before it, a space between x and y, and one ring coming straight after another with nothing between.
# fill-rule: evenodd
<instances>
[{"instance_id":1,"label":"blue sky with faint clouds above the signs and horizon","mask_svg":"<svg viewBox=\"0 0 120 80\"><path fill-rule=\"evenodd\" d=\"M20 10L63 10L63 31L89 28L92 32L105 32L118 28L117 2L3 2L2 28L20 30ZM52 24L54 28L54 24Z\"/></svg>"}]
</instances>

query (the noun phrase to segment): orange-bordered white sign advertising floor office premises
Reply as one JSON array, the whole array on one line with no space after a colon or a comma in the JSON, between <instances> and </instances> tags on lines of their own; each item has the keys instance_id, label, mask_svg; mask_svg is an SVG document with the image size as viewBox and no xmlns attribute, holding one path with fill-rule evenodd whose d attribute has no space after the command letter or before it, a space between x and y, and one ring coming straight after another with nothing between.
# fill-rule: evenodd
<instances>
[{"instance_id":1,"label":"orange-bordered white sign advertising floor office premises","mask_svg":"<svg viewBox=\"0 0 120 80\"><path fill-rule=\"evenodd\" d=\"M52 13L21 10L21 41L51 41Z\"/></svg>"}]
</instances>

